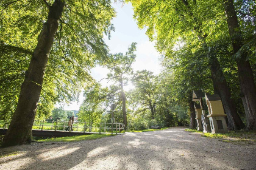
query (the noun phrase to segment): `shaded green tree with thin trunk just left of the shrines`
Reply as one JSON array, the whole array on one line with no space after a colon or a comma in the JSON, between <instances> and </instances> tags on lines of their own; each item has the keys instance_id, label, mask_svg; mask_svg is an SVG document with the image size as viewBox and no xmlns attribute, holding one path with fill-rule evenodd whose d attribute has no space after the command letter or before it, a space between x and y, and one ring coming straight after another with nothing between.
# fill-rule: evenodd
<instances>
[{"instance_id":1,"label":"shaded green tree with thin trunk just left of the shrines","mask_svg":"<svg viewBox=\"0 0 256 170\"><path fill-rule=\"evenodd\" d=\"M165 58L162 64L166 70L163 72L162 83L163 87L160 88L168 93L162 98L170 96L169 112L177 112L175 108L179 107L181 110L187 108L187 113L190 115L190 128L194 129L195 123L195 110L192 101L192 92L196 89L204 89L206 92L212 91L212 82L210 82L210 72L206 69L207 65L205 60L194 60L191 62L190 58L201 58L198 53L191 52L190 46L184 45L180 50L172 52L170 58ZM200 66L200 67L198 67ZM166 90L168 89L168 90ZM165 101L166 103L166 101ZM178 109L180 110L180 109ZM178 119L179 120L179 119ZM180 121L179 123L180 124Z\"/></svg>"}]
</instances>

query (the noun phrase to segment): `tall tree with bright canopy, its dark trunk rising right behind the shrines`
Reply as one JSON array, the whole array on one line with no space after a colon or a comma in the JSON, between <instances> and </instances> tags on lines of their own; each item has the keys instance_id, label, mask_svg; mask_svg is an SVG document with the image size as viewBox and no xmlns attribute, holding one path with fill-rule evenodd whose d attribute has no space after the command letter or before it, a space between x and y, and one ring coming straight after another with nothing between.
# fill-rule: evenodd
<instances>
[{"instance_id":1,"label":"tall tree with bright canopy, its dark trunk rising right behind the shrines","mask_svg":"<svg viewBox=\"0 0 256 170\"><path fill-rule=\"evenodd\" d=\"M135 18L142 28L148 27L149 38L157 40L157 48L166 55L172 51L175 43L184 41L188 44L196 42L199 44L193 50L204 50L204 57L209 58L208 65L212 69L212 79L215 87L224 104L224 108L229 117L230 129L241 129L244 127L239 117L235 105L230 98L229 87L227 86L224 74L222 73L217 55L209 53L210 42L216 39L223 39L227 35L224 27L224 20L219 17L223 15L222 4L215 1L176 1L169 4L165 1L132 1L135 9ZM211 10L205 10L211 9ZM220 30L220 28L222 30ZM191 32L193 30L193 32ZM196 39L197 38L197 39ZM202 46L204 45L204 46ZM202 49L198 49L198 48ZM199 58L202 60L202 58ZM216 76L217 75L217 76Z\"/></svg>"}]
</instances>

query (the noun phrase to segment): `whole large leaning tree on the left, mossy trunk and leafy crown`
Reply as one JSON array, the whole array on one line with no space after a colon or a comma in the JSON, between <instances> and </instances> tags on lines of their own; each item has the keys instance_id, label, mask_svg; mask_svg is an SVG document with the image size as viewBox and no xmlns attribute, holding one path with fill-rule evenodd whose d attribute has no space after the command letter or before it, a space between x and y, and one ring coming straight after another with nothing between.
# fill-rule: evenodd
<instances>
[{"instance_id":1,"label":"whole large leaning tree on the left, mossy trunk and leafy crown","mask_svg":"<svg viewBox=\"0 0 256 170\"><path fill-rule=\"evenodd\" d=\"M42 6L43 10L41 10ZM110 20L114 16L114 12L110 1L76 1L74 3L74 1L55 0L53 4L48 4L46 1L34 4L2 1L1 9L1 12L4 12L3 16L7 18L10 16L6 19L7 21L12 21L11 16L13 15L10 15L10 13L16 12L15 10L19 12L18 9L21 9L21 12L28 10L27 13L29 14L41 14L39 18L47 18L38 35L37 46L34 49L24 82L21 85L18 104L2 143L2 146L12 146L22 144L30 140L32 136L32 124L51 49L56 48L58 52L62 52L66 62L72 63L73 55L76 56L78 64L82 63L81 56L87 56L91 61L101 59L107 53L107 47L102 40L103 32L109 33L112 30ZM37 12L37 9L40 12ZM47 10L49 11L48 14L45 13ZM29 17L30 15L27 15L27 18ZM22 15L21 18L26 19ZM33 21L35 20L34 18ZM7 25L8 22L4 23ZM58 30L59 26L60 30ZM58 35L58 39L54 41L56 35ZM24 41L24 39L21 39L21 41ZM92 63L90 60L87 60L89 61L88 64Z\"/></svg>"}]
</instances>

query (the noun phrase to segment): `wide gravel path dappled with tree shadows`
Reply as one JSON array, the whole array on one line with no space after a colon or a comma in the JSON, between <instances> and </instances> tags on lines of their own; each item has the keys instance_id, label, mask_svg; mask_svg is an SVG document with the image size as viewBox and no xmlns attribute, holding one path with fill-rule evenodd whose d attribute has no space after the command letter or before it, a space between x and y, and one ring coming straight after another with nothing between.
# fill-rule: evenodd
<instances>
[{"instance_id":1,"label":"wide gravel path dappled with tree shadows","mask_svg":"<svg viewBox=\"0 0 256 170\"><path fill-rule=\"evenodd\" d=\"M172 127L72 143L1 148L0 169L256 169L255 144L226 143Z\"/></svg>"}]
</instances>

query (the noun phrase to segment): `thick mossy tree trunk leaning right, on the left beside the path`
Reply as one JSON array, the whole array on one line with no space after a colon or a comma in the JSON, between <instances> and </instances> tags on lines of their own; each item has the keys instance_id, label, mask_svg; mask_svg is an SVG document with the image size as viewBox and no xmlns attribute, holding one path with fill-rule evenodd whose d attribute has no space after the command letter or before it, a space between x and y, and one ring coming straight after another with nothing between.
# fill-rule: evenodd
<instances>
[{"instance_id":1,"label":"thick mossy tree trunk leaning right, on the left beside the path","mask_svg":"<svg viewBox=\"0 0 256 170\"><path fill-rule=\"evenodd\" d=\"M29 69L23 84L21 85L20 97L16 110L10 122L7 134L4 136L2 146L13 146L23 144L32 137L32 126L35 119L38 101L43 84L43 76L48 62L49 53L54 41L64 8L64 2L55 0L49 7L46 23L43 25L38 36L37 47L35 47Z\"/></svg>"}]
</instances>

